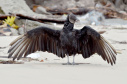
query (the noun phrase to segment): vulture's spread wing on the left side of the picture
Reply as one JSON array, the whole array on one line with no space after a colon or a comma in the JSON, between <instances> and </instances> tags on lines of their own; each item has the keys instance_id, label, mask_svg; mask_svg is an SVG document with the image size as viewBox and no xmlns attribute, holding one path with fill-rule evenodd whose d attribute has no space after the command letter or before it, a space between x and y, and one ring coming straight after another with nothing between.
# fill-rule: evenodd
<instances>
[{"instance_id":1,"label":"vulture's spread wing on the left side of the picture","mask_svg":"<svg viewBox=\"0 0 127 84\"><path fill-rule=\"evenodd\" d=\"M22 56L26 57L36 51L47 51L61 56L59 36L59 30L47 27L39 27L28 31L10 44L8 57L19 60Z\"/></svg>"}]
</instances>

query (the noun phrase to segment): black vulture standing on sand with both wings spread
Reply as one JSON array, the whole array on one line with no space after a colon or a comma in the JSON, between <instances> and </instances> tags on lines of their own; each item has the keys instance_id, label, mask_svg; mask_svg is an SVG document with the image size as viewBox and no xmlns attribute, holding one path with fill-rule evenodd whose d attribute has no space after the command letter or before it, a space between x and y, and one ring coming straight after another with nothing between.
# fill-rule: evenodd
<instances>
[{"instance_id":1,"label":"black vulture standing on sand with both wings spread","mask_svg":"<svg viewBox=\"0 0 127 84\"><path fill-rule=\"evenodd\" d=\"M89 26L84 26L81 30L73 29L76 20L76 16L70 14L62 30L38 27L28 31L10 44L8 57L19 60L36 51L47 51L61 58L67 56L67 64L70 64L69 56L73 56L75 64L76 54L89 58L97 53L111 65L115 64L117 53L110 43Z\"/></svg>"}]
</instances>

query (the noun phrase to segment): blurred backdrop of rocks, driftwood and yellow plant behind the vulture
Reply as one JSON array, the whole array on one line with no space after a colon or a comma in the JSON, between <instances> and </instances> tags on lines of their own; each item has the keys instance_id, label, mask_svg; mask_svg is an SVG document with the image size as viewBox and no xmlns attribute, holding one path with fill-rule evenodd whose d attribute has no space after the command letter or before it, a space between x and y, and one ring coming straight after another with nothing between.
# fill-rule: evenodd
<instances>
[{"instance_id":1,"label":"blurred backdrop of rocks, driftwood and yellow plant behind the vulture","mask_svg":"<svg viewBox=\"0 0 127 84\"><path fill-rule=\"evenodd\" d=\"M69 13L84 25L126 28L127 0L0 0L0 36L21 35L38 26L61 29Z\"/></svg>"}]
</instances>

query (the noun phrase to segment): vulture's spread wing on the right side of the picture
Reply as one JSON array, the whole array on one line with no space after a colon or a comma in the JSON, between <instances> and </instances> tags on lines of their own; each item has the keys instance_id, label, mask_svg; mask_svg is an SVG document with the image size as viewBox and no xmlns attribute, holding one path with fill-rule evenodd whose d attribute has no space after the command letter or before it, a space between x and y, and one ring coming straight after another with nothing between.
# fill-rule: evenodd
<instances>
[{"instance_id":1,"label":"vulture's spread wing on the right side of the picture","mask_svg":"<svg viewBox=\"0 0 127 84\"><path fill-rule=\"evenodd\" d=\"M83 27L79 33L78 53L82 54L84 58L88 58L94 53L97 53L105 61L111 63L111 65L115 64L117 53L103 36L89 26Z\"/></svg>"}]
</instances>

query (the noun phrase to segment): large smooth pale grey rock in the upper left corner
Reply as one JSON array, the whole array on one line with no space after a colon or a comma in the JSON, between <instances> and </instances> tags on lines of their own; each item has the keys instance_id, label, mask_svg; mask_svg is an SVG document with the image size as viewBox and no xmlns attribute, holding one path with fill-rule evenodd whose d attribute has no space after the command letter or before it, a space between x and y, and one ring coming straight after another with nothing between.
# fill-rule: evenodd
<instances>
[{"instance_id":1,"label":"large smooth pale grey rock in the upper left corner","mask_svg":"<svg viewBox=\"0 0 127 84\"><path fill-rule=\"evenodd\" d=\"M25 0L0 0L0 7L5 14L16 13L28 16L46 17L41 14L34 13Z\"/></svg>"}]
</instances>

